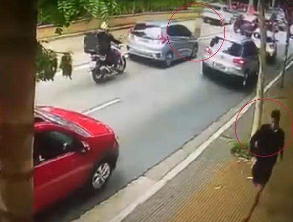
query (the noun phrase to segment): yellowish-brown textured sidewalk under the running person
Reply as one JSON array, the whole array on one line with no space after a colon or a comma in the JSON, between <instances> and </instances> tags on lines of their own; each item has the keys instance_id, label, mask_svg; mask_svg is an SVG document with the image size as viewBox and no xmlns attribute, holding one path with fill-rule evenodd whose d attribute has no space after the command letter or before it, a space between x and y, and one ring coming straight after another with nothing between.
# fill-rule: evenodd
<instances>
[{"instance_id":1,"label":"yellowish-brown textured sidewalk under the running person","mask_svg":"<svg viewBox=\"0 0 293 222\"><path fill-rule=\"evenodd\" d=\"M293 113L293 69L289 69L285 88L278 84L266 93L266 98L281 102ZM281 110L281 127L289 141L292 124L289 115L277 103L265 101L264 121L273 109ZM253 107L253 106L252 106ZM238 121L241 141L248 141L253 108ZM255 191L251 162L239 162L230 154L228 141L235 139L234 125L187 168L169 180L155 195L138 205L123 222L241 222L253 203ZM284 159L276 164L261 201L250 222L293 221L293 143L284 151Z\"/></svg>"}]
</instances>

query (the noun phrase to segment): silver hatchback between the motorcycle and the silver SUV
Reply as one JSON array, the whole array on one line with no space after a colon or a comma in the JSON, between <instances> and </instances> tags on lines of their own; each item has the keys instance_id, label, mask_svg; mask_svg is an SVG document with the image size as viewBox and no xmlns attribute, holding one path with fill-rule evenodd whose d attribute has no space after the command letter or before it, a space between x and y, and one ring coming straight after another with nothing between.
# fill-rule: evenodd
<instances>
[{"instance_id":1,"label":"silver hatchback between the motorcycle and the silver SUV","mask_svg":"<svg viewBox=\"0 0 293 222\"><path fill-rule=\"evenodd\" d=\"M165 67L181 59L171 49L167 40L168 21L139 22L131 28L128 36L127 50L130 55L160 61ZM168 38L172 48L184 58L195 58L198 41L184 25L170 22Z\"/></svg>"}]
</instances>

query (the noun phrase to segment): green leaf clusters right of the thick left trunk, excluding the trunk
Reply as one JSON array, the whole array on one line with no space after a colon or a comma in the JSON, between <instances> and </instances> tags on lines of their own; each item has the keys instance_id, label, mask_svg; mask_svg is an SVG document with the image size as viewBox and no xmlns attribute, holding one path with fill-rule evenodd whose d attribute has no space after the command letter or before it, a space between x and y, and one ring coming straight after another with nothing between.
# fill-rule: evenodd
<instances>
[{"instance_id":1,"label":"green leaf clusters right of the thick left trunk, excluding the trunk","mask_svg":"<svg viewBox=\"0 0 293 222\"><path fill-rule=\"evenodd\" d=\"M38 9L38 19L47 20L56 25L56 32L59 34L62 34L63 27L68 27L72 21L79 19L83 14L108 21L111 15L119 13L115 0L39 0ZM58 69L57 54L63 55L59 66L63 76L71 79L71 54L46 49L42 46L42 42L38 42L36 81L54 80Z\"/></svg>"}]
</instances>

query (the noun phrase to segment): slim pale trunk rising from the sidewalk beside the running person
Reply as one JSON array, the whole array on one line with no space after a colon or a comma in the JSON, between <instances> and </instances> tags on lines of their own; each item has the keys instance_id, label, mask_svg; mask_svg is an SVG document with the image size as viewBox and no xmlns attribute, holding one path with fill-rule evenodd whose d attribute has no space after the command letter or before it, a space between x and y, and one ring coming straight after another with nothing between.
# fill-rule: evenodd
<instances>
[{"instance_id":1,"label":"slim pale trunk rising from the sidewalk beside the running person","mask_svg":"<svg viewBox=\"0 0 293 222\"><path fill-rule=\"evenodd\" d=\"M259 4L259 28L260 28L260 53L259 53L259 74L256 87L256 97L258 99L264 98L264 70L266 66L266 39L267 32L264 24L264 1L260 0ZM254 119L252 125L251 136L257 131L261 126L263 113L263 100L256 101L254 110Z\"/></svg>"}]
</instances>

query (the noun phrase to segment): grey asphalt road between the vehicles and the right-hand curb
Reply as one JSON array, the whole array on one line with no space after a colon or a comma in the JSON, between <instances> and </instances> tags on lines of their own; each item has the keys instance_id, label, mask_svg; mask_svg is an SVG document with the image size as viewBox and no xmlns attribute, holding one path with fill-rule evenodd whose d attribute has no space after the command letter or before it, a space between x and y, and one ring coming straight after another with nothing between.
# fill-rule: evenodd
<instances>
[{"instance_id":1,"label":"grey asphalt road between the vehicles and the right-hand curb","mask_svg":"<svg viewBox=\"0 0 293 222\"><path fill-rule=\"evenodd\" d=\"M200 51L208 43L202 41ZM267 67L267 81L278 74L284 53L281 44L277 63ZM38 83L36 103L76 111L91 109L88 115L107 123L119 136L117 169L102 192L92 197L73 195L39 215L38 221L65 222L80 216L165 159L252 92L222 76L203 77L200 62L180 61L163 69L147 60L128 59L125 74L99 85L87 71L86 67L74 71L73 80L57 76L54 82ZM106 107L101 109L101 104Z\"/></svg>"}]
</instances>

